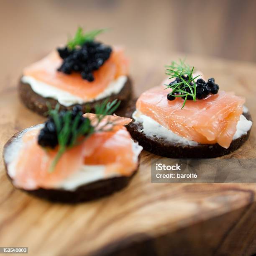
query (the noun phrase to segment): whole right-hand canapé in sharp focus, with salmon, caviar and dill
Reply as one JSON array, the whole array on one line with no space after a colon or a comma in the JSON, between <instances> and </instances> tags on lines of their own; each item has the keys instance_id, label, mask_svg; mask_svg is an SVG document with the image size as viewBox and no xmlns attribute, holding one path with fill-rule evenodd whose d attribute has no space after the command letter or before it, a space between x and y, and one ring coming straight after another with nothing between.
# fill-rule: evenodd
<instances>
[{"instance_id":1,"label":"whole right-hand canap\u00e9 in sharp focus, with salmon, caviar and dill","mask_svg":"<svg viewBox=\"0 0 256 256\"><path fill-rule=\"evenodd\" d=\"M212 158L239 148L251 130L245 99L219 90L183 61L164 81L143 92L128 116L128 131L144 149L170 158Z\"/></svg>"}]
</instances>

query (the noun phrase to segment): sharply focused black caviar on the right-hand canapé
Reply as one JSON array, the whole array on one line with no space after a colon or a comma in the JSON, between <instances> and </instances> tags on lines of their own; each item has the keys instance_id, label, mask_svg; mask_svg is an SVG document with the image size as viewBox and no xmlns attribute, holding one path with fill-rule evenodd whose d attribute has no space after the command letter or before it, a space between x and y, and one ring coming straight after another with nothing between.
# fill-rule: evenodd
<instances>
[{"instance_id":1,"label":"sharply focused black caviar on the right-hand canap\u00e9","mask_svg":"<svg viewBox=\"0 0 256 256\"><path fill-rule=\"evenodd\" d=\"M182 76L182 78L186 81L188 81L188 76ZM177 83L180 83L182 82L182 79L180 79L179 77L177 77L175 79L175 81L171 82L169 85L174 85L174 84L177 84ZM194 83L193 82L190 82L190 85L191 86L194 86ZM180 87L182 90L186 91L186 92L189 92L191 93L191 90L189 87L187 86L181 86ZM218 84L215 84L215 79L214 78L209 78L207 82L205 82L204 79L198 79L197 82L196 82L196 98L198 100L202 100L203 98L206 98L209 94L217 94L220 87ZM179 94L179 92L174 92L174 94ZM167 95L167 99L168 100L175 100L175 96L173 95ZM182 97L183 99L185 99L185 96ZM187 100L193 100L193 97L188 95L187 96Z\"/></svg>"}]
</instances>

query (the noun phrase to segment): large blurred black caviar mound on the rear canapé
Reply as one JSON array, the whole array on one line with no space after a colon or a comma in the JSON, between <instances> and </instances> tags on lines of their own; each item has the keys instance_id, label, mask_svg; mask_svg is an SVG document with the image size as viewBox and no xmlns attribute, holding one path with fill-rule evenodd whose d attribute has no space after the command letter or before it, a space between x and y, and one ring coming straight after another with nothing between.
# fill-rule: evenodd
<instances>
[{"instance_id":1,"label":"large blurred black caviar mound on the rear canap\u00e9","mask_svg":"<svg viewBox=\"0 0 256 256\"><path fill-rule=\"evenodd\" d=\"M94 80L93 71L99 69L110 57L112 49L99 42L87 41L79 48L70 50L68 47L58 48L63 63L58 71L65 74L79 72L83 79L89 82Z\"/></svg>"}]
</instances>

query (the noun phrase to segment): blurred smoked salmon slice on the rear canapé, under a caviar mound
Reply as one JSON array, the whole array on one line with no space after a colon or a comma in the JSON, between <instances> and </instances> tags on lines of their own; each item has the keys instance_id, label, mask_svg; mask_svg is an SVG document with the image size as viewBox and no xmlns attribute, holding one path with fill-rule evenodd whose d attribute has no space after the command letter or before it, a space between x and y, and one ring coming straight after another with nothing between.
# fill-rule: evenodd
<instances>
[{"instance_id":1,"label":"blurred smoked salmon slice on the rear canap\u00e9, under a caviar mound","mask_svg":"<svg viewBox=\"0 0 256 256\"><path fill-rule=\"evenodd\" d=\"M108 87L110 82L128 74L129 61L120 47L114 47L110 58L100 69L93 72L95 77L93 82L82 79L79 73L58 72L57 69L62 61L57 51L52 51L44 59L26 67L23 70L23 75L33 77L84 100L93 100Z\"/></svg>"}]
</instances>

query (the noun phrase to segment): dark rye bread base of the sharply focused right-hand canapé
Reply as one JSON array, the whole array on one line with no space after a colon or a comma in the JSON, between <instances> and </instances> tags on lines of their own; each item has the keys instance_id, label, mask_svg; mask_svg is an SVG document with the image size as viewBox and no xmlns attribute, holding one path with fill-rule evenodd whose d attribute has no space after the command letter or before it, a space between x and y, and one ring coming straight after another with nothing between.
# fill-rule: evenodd
<instances>
[{"instance_id":1,"label":"dark rye bread base of the sharply focused right-hand canap\u00e9","mask_svg":"<svg viewBox=\"0 0 256 256\"><path fill-rule=\"evenodd\" d=\"M132 118L132 113L135 111L135 102L130 105L125 112L125 116ZM251 119L250 113L243 113L248 119ZM169 158L214 158L230 154L236 149L240 148L245 143L250 135L250 131L232 141L229 148L223 148L218 143L215 144L198 144L197 146L187 146L166 141L164 138L147 137L145 133L140 132L143 129L142 124L131 122L127 126L127 130L131 133L133 139L138 141L143 149Z\"/></svg>"}]
</instances>

